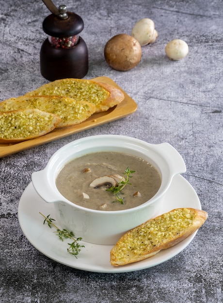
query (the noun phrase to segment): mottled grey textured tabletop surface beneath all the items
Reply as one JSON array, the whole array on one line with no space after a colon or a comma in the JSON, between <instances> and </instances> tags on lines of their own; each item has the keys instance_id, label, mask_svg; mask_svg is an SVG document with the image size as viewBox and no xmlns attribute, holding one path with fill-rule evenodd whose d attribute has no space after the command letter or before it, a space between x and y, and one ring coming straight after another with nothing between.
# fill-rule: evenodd
<instances>
[{"instance_id":1,"label":"mottled grey textured tabletop surface beneath all the items","mask_svg":"<svg viewBox=\"0 0 223 303\"><path fill-rule=\"evenodd\" d=\"M59 4L55 2L58 6ZM223 1L105 0L64 2L81 15L89 49L85 78L109 76L138 104L133 115L0 159L0 302L223 302ZM42 1L1 1L0 100L47 81L39 50L49 15ZM143 47L140 64L128 72L104 61L105 43L130 34L136 21L155 21L159 38ZM190 48L172 62L164 47L174 38ZM38 252L24 237L17 207L31 173L64 144L95 134L134 136L171 143L183 156L184 177L209 214L191 244L159 266L133 273L89 273L68 268Z\"/></svg>"}]
</instances>

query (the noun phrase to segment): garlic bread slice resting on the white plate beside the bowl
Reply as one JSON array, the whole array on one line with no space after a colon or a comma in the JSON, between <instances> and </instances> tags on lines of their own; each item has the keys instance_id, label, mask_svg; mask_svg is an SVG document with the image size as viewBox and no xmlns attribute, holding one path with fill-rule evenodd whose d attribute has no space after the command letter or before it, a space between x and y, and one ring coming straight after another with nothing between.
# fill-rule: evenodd
<instances>
[{"instance_id":1,"label":"garlic bread slice resting on the white plate beside the bowl","mask_svg":"<svg viewBox=\"0 0 223 303\"><path fill-rule=\"evenodd\" d=\"M207 212L181 208L150 219L124 234L111 250L114 266L150 258L160 250L183 241L201 227Z\"/></svg>"}]
</instances>

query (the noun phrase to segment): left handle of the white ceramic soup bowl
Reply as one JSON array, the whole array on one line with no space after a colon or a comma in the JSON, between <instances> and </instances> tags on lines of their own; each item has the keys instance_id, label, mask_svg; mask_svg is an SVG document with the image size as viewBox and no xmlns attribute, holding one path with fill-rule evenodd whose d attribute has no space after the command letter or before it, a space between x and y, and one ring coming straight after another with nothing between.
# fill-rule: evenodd
<instances>
[{"instance_id":1,"label":"left handle of the white ceramic soup bowl","mask_svg":"<svg viewBox=\"0 0 223 303\"><path fill-rule=\"evenodd\" d=\"M57 193L51 188L47 180L47 172L45 169L32 173L32 185L37 194L46 202L58 202Z\"/></svg>"}]
</instances>

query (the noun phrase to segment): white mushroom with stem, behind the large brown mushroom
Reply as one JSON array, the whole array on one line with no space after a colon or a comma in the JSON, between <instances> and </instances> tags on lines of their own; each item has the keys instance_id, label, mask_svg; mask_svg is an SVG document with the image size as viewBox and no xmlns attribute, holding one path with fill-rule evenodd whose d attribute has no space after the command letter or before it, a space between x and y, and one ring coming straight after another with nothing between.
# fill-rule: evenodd
<instances>
[{"instance_id":1,"label":"white mushroom with stem, behind the large brown mushroom","mask_svg":"<svg viewBox=\"0 0 223 303\"><path fill-rule=\"evenodd\" d=\"M132 28L131 36L139 41L141 46L152 44L158 37L153 20L143 18L139 20Z\"/></svg>"}]
</instances>

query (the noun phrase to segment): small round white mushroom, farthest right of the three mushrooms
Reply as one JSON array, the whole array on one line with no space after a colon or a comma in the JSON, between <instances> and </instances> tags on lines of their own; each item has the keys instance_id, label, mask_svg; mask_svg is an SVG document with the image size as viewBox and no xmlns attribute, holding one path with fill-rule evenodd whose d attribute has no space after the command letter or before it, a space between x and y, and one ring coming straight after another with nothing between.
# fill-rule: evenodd
<instances>
[{"instance_id":1,"label":"small round white mushroom, farthest right of the three mushrooms","mask_svg":"<svg viewBox=\"0 0 223 303\"><path fill-rule=\"evenodd\" d=\"M187 56L189 47L185 41L174 39L166 45L165 52L170 60L176 61Z\"/></svg>"}]
</instances>

